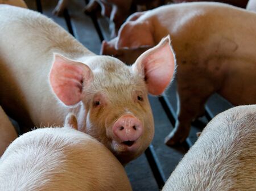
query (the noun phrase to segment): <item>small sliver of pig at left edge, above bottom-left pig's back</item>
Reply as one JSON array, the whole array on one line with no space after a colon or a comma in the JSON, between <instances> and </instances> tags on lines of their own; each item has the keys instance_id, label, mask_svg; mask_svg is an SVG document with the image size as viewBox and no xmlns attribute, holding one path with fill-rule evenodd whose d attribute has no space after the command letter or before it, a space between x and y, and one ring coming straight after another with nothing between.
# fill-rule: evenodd
<instances>
[{"instance_id":1,"label":"small sliver of pig at left edge, above bottom-left pig's back","mask_svg":"<svg viewBox=\"0 0 256 191\"><path fill-rule=\"evenodd\" d=\"M18 137L16 130L11 124L9 117L3 111L3 108L0 106L0 157L3 152L5 152L6 148L10 145L10 143Z\"/></svg>"}]
</instances>

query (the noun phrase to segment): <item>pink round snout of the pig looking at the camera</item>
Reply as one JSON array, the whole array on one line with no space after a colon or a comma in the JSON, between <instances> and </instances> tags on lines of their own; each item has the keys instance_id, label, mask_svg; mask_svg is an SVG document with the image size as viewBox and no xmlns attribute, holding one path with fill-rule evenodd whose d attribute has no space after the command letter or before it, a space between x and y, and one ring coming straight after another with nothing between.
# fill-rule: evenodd
<instances>
[{"instance_id":1,"label":"pink round snout of the pig looking at the camera","mask_svg":"<svg viewBox=\"0 0 256 191\"><path fill-rule=\"evenodd\" d=\"M125 114L114 123L113 133L118 139L118 142L132 146L141 137L143 125L137 117Z\"/></svg>"}]
</instances>

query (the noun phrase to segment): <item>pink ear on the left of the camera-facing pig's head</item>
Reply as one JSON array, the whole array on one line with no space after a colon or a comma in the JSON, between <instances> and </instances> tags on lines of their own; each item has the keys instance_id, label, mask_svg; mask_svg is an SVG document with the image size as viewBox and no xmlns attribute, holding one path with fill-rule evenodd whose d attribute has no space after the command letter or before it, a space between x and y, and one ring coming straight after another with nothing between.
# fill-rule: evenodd
<instances>
[{"instance_id":1,"label":"pink ear on the left of the camera-facing pig's head","mask_svg":"<svg viewBox=\"0 0 256 191\"><path fill-rule=\"evenodd\" d=\"M54 56L49 73L53 92L65 105L79 103L82 87L93 79L92 71L84 63L68 60L60 54Z\"/></svg>"}]
</instances>

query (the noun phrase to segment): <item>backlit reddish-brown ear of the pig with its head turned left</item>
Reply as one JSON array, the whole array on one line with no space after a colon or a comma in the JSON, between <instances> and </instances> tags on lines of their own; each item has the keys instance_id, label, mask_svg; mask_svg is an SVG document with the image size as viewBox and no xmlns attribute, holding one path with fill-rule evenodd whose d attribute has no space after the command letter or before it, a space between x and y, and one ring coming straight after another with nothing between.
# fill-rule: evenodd
<instances>
[{"instance_id":1,"label":"backlit reddish-brown ear of the pig with its head turned left","mask_svg":"<svg viewBox=\"0 0 256 191\"><path fill-rule=\"evenodd\" d=\"M129 21L124 23L118 31L118 40L115 49L139 48L141 46L154 46L152 27L148 21Z\"/></svg>"}]
</instances>

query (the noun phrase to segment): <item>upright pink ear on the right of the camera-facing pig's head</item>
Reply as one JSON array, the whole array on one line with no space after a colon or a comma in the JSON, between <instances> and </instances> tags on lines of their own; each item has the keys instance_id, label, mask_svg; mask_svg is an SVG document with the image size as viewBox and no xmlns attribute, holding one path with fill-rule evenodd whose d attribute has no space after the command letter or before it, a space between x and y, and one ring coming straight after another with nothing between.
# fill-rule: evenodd
<instances>
[{"instance_id":1,"label":"upright pink ear on the right of the camera-facing pig's head","mask_svg":"<svg viewBox=\"0 0 256 191\"><path fill-rule=\"evenodd\" d=\"M154 48L144 52L134 63L132 70L144 75L150 94L160 95L174 77L175 62L170 37L167 36Z\"/></svg>"}]
</instances>

